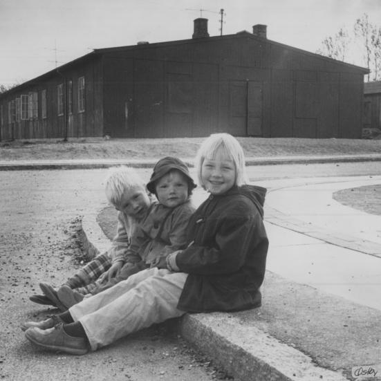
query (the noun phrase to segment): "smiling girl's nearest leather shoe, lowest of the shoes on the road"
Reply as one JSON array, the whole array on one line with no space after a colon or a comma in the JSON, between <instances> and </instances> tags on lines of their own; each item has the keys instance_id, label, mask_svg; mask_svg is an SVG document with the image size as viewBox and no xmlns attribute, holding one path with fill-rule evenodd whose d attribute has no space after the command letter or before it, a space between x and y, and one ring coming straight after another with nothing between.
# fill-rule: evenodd
<instances>
[{"instance_id":1,"label":"smiling girl's nearest leather shoe, lowest of the shoes on the road","mask_svg":"<svg viewBox=\"0 0 381 381\"><path fill-rule=\"evenodd\" d=\"M52 351L61 351L71 355L84 355L89 352L86 339L69 336L64 331L64 324L58 324L45 330L31 327L26 330L25 336L30 342Z\"/></svg>"}]
</instances>

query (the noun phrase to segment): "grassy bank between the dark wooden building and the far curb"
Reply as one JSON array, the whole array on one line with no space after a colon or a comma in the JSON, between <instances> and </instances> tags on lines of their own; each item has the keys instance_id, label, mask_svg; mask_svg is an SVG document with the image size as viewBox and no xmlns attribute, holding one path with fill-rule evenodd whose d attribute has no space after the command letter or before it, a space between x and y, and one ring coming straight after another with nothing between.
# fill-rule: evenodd
<instances>
[{"instance_id":1,"label":"grassy bank between the dark wooden building and the far curb","mask_svg":"<svg viewBox=\"0 0 381 381\"><path fill-rule=\"evenodd\" d=\"M0 142L0 160L193 158L204 138ZM247 157L381 154L381 140L238 138Z\"/></svg>"}]
</instances>

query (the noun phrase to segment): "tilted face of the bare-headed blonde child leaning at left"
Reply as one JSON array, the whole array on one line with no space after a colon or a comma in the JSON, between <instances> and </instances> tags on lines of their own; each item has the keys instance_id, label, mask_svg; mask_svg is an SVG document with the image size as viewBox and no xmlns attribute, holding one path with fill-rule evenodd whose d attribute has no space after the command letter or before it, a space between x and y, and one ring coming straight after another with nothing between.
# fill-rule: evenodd
<instances>
[{"instance_id":1,"label":"tilted face of the bare-headed blonde child leaning at left","mask_svg":"<svg viewBox=\"0 0 381 381\"><path fill-rule=\"evenodd\" d=\"M140 221L150 205L147 191L138 186L131 187L124 191L120 203L114 205L116 210L124 212L129 216Z\"/></svg>"}]
</instances>

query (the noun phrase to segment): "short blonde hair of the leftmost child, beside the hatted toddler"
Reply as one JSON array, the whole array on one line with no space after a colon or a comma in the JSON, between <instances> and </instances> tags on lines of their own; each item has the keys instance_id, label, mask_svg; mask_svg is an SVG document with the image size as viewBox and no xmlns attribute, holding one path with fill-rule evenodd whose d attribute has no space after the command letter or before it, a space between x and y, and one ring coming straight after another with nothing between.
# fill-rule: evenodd
<instances>
[{"instance_id":1,"label":"short blonde hair of the leftmost child, beside the hatted toddler","mask_svg":"<svg viewBox=\"0 0 381 381\"><path fill-rule=\"evenodd\" d=\"M106 197L109 203L118 205L122 200L124 192L129 191L132 187L140 187L147 192L145 183L136 173L135 169L125 165L109 168L105 186Z\"/></svg>"}]
</instances>

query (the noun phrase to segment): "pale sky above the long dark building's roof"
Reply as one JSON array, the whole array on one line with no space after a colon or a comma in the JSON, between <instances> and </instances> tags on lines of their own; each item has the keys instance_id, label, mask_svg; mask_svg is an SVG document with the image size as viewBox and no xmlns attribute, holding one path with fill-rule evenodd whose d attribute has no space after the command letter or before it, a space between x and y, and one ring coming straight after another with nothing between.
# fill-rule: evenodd
<instances>
[{"instance_id":1,"label":"pale sky above the long dark building's roof","mask_svg":"<svg viewBox=\"0 0 381 381\"><path fill-rule=\"evenodd\" d=\"M95 48L192 38L197 17L220 35L221 9L223 35L265 24L268 39L312 53L364 13L381 26L381 0L0 0L0 84L31 80Z\"/></svg>"}]
</instances>

